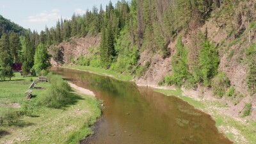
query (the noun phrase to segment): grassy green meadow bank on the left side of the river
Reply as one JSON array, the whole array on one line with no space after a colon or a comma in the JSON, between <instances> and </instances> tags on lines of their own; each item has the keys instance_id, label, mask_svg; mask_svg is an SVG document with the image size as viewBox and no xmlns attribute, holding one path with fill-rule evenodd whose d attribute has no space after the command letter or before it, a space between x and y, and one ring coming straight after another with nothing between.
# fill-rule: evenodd
<instances>
[{"instance_id":1,"label":"grassy green meadow bank on the left side of the river","mask_svg":"<svg viewBox=\"0 0 256 144\"><path fill-rule=\"evenodd\" d=\"M47 108L38 105L45 90L33 89L32 99L26 100L24 92L31 84L30 79L36 77L15 75L12 81L0 82L0 111L23 111L26 106L30 113L0 126L0 143L79 143L93 133L90 125L97 121L101 111L98 100L89 93L73 88L74 103L60 109ZM51 85L36 86L47 90Z\"/></svg>"}]
</instances>

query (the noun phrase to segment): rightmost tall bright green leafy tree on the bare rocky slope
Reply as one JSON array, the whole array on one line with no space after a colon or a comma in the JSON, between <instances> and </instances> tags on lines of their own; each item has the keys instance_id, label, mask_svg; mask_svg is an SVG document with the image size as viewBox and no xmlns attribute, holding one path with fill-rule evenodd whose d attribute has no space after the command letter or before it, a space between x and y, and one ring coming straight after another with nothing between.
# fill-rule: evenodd
<instances>
[{"instance_id":1,"label":"rightmost tall bright green leafy tree on the bare rocky slope","mask_svg":"<svg viewBox=\"0 0 256 144\"><path fill-rule=\"evenodd\" d=\"M217 49L215 49L214 45L211 44L209 40L206 40L199 54L200 74L202 75L202 81L205 86L211 85L212 77L216 76L218 73L219 63L220 58Z\"/></svg>"}]
</instances>

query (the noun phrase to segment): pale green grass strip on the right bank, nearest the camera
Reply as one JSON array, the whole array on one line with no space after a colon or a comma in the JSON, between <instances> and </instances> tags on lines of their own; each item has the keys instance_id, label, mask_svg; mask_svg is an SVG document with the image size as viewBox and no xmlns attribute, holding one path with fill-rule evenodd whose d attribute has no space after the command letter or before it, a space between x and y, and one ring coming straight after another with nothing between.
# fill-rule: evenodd
<instances>
[{"instance_id":1,"label":"pale green grass strip on the right bank, nearest the camera","mask_svg":"<svg viewBox=\"0 0 256 144\"><path fill-rule=\"evenodd\" d=\"M156 92L163 93L164 95L173 95L179 97L180 99L188 102L192 106L197 109L204 111L205 113L209 113L213 120L216 122L216 126L220 131L225 132L225 136L230 140L234 141L234 143L256 143L256 122L240 122L233 118L232 116L223 115L220 111L221 109L228 108L227 104L222 104L220 102L212 102L212 101L197 101L193 98L186 97L182 95L182 90L161 90L155 89ZM248 104L248 109L250 106ZM176 120L177 124L182 126L184 125L181 120ZM234 132L235 130L237 132ZM243 138L246 140L244 141Z\"/></svg>"}]
</instances>

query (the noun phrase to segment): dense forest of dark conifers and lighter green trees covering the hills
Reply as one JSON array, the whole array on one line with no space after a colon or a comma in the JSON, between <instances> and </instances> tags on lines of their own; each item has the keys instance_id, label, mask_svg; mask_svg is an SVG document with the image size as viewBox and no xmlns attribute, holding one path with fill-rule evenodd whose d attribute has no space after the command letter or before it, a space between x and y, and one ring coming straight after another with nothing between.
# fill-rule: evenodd
<instances>
[{"instance_id":1,"label":"dense forest of dark conifers and lighter green trees covering the hills","mask_svg":"<svg viewBox=\"0 0 256 144\"><path fill-rule=\"evenodd\" d=\"M193 31L190 45L184 44L182 36L187 35L191 29L204 25L212 15L220 24L228 15L234 15L229 19L237 20L237 24L230 28L233 29L230 35L236 35L238 38L246 33L245 26L239 28L243 21L250 20L250 27L254 28L253 11L251 6L247 6L247 11L244 10L244 3L245 1L230 0L132 0L118 1L116 4L109 2L106 8L100 6L98 9L94 6L84 15L74 13L70 20L60 19L56 26L46 27L45 31L40 33L22 29L2 18L1 79L12 77L12 63L22 63L22 72L25 75L40 74L41 70L50 67L50 57L63 64L60 49L54 45L68 42L74 37L100 35L100 47L93 47L90 56L80 56L76 61L72 61L77 65L101 67L141 77L150 66L150 61L138 63L143 51L148 51L152 56L159 54L163 59L173 56L170 63L172 74L168 74L159 84L193 88L200 83L212 87L216 91L215 95L222 97L230 88L230 81L225 72L218 70L221 46L214 44L209 38L207 27L204 31ZM223 26L222 24L220 28ZM236 32L236 27L240 31ZM176 52L171 53L168 44L175 40ZM254 44L250 45L246 48L247 84L248 90L253 94L256 92L256 50ZM47 54L49 47L54 49L52 56Z\"/></svg>"}]
</instances>

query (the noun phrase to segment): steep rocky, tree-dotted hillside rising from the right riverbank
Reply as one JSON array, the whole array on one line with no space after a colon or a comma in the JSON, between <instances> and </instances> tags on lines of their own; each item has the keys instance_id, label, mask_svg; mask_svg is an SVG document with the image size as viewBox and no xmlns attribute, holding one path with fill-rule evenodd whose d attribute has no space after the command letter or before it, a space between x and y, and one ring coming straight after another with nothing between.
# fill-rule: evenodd
<instances>
[{"instance_id":1,"label":"steep rocky, tree-dotted hillside rising from the right riverbank","mask_svg":"<svg viewBox=\"0 0 256 144\"><path fill-rule=\"evenodd\" d=\"M255 3L228 0L149 2L139 0L127 4L122 1L115 8L109 3L107 8L110 9L106 12L100 8L99 13L93 9L94 12L86 12L83 17L74 15L69 22L71 27L78 24L83 30L81 19L84 19L85 23L89 22L86 23L88 28L92 28L95 21L88 19L89 16L91 19L102 19L99 21L102 26L99 29L87 29L84 38L79 38L83 34L80 31L81 34L59 44L58 47L63 47L64 62L131 74L139 85L178 85L186 95L227 103L230 109L226 113L232 116L243 115L246 104L252 103L252 115L248 118L256 120L253 94L255 73L252 73L256 61L253 46L256 40ZM110 22L113 24L111 29L114 36L114 47L108 51L114 53L107 56L111 58L111 63L100 63L106 43L103 40L109 37L106 36L109 29L107 13L113 17ZM116 26L115 20L120 25ZM95 33L100 33L101 44L99 36L94 36ZM209 45L210 49L212 47L212 51L218 54L218 65L216 72L210 70L207 77L200 78L204 77L200 75L204 73L200 72L200 68L203 68L200 66L200 52L204 49L205 38L212 44ZM186 55L181 59L177 58L179 45L186 50L178 50L178 53L180 51ZM209 64L209 67L215 66ZM252 79L248 78L250 72ZM179 78L173 79L173 76ZM227 79L227 84L218 79Z\"/></svg>"}]
</instances>

